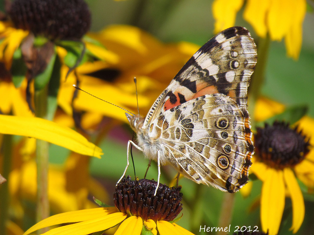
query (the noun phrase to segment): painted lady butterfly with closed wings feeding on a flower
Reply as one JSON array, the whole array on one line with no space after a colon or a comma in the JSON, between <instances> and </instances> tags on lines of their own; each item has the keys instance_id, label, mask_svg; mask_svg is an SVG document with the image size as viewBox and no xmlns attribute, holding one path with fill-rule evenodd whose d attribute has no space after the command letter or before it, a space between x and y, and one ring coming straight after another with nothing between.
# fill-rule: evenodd
<instances>
[{"instance_id":1,"label":"painted lady butterfly with closed wings feeding on a flower","mask_svg":"<svg viewBox=\"0 0 314 235\"><path fill-rule=\"evenodd\" d=\"M248 180L254 152L247 88L256 62L256 45L246 28L231 27L210 39L145 118L126 113L138 142L128 142L127 167L132 144L157 161L157 185L160 164L170 164L198 184L238 191Z\"/></svg>"}]
</instances>

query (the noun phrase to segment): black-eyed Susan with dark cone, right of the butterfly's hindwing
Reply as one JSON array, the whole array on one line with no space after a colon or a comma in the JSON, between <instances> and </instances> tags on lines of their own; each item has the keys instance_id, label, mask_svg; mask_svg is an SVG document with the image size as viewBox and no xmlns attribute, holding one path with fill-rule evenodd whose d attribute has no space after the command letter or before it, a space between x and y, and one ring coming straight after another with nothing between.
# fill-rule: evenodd
<instances>
[{"instance_id":1,"label":"black-eyed Susan with dark cone, right of the butterfly's hindwing","mask_svg":"<svg viewBox=\"0 0 314 235\"><path fill-rule=\"evenodd\" d=\"M297 232L303 222L305 206L296 177L306 175L306 182L313 185L314 176L314 151L310 151L307 128L301 131L300 126L291 129L287 123L274 122L257 128L254 136L256 154L251 173L263 182L261 223L263 231L269 229L270 235L278 233L286 194L292 201L291 230Z\"/></svg>"}]
</instances>

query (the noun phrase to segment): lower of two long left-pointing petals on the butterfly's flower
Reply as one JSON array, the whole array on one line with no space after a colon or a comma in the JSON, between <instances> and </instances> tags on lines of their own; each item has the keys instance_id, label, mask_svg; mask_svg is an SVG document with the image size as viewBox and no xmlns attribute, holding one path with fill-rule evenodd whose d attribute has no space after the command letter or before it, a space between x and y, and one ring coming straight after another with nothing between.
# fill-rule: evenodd
<instances>
[{"instance_id":1,"label":"lower of two long left-pointing petals on the butterfly's flower","mask_svg":"<svg viewBox=\"0 0 314 235\"><path fill-rule=\"evenodd\" d=\"M42 235L86 235L111 228L123 221L126 217L127 215L122 212L115 212L83 222L57 227ZM24 235L26 234L29 233L24 233Z\"/></svg>"}]
</instances>

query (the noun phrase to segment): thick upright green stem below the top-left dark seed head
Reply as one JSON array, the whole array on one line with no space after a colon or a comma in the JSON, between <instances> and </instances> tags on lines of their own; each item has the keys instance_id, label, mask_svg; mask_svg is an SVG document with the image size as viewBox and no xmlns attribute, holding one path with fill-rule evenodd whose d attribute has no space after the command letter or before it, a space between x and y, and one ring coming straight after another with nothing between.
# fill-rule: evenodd
<instances>
[{"instance_id":1,"label":"thick upright green stem below the top-left dark seed head","mask_svg":"<svg viewBox=\"0 0 314 235\"><path fill-rule=\"evenodd\" d=\"M35 91L35 115L40 118L47 118L47 87ZM37 163L37 205L36 221L47 218L49 212L48 200L48 164L49 144L46 141L36 141L36 163ZM48 231L41 229L38 234Z\"/></svg>"}]
</instances>

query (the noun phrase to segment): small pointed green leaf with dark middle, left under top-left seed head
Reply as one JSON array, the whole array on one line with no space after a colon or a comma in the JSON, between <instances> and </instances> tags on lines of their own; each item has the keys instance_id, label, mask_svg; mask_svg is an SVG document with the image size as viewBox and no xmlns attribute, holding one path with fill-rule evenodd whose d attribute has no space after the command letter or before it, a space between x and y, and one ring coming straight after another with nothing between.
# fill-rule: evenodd
<instances>
[{"instance_id":1,"label":"small pointed green leaf with dark middle, left under top-left seed head","mask_svg":"<svg viewBox=\"0 0 314 235\"><path fill-rule=\"evenodd\" d=\"M18 48L13 54L11 67L12 82L16 88L19 88L25 78L27 67L22 58L22 50Z\"/></svg>"}]
</instances>

